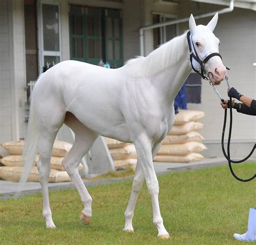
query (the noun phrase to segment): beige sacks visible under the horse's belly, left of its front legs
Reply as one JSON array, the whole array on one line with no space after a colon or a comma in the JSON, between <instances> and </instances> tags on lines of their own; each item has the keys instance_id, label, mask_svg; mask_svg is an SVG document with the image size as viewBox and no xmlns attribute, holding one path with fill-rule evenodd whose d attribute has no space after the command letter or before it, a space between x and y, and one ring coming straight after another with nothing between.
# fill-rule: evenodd
<instances>
[{"instance_id":1,"label":"beige sacks visible under the horse's belly, left of its front legs","mask_svg":"<svg viewBox=\"0 0 256 245\"><path fill-rule=\"evenodd\" d=\"M107 147L114 160L114 167L130 166L135 170L137 153L133 144L117 141L116 139L105 138Z\"/></svg>"}]
</instances>

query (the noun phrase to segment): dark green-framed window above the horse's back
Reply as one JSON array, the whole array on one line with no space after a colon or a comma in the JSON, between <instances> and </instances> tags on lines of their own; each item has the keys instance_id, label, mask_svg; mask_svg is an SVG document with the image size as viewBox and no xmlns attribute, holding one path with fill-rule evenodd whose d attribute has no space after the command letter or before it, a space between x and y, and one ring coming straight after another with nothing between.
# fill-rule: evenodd
<instances>
[{"instance_id":1,"label":"dark green-framed window above the horse's back","mask_svg":"<svg viewBox=\"0 0 256 245\"><path fill-rule=\"evenodd\" d=\"M70 57L111 67L123 65L123 35L120 10L70 6Z\"/></svg>"}]
</instances>

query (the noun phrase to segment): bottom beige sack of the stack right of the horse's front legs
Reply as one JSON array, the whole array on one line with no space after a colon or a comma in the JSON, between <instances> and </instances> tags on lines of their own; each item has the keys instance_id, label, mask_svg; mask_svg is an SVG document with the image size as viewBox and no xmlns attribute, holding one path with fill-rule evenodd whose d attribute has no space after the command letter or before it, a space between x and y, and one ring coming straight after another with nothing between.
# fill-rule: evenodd
<instances>
[{"instance_id":1,"label":"bottom beige sack of the stack right of the horse's front legs","mask_svg":"<svg viewBox=\"0 0 256 245\"><path fill-rule=\"evenodd\" d=\"M166 163L190 163L203 160L204 157L199 153L190 153L186 156L171 156L171 155L157 155L154 157L154 162Z\"/></svg>"}]
</instances>

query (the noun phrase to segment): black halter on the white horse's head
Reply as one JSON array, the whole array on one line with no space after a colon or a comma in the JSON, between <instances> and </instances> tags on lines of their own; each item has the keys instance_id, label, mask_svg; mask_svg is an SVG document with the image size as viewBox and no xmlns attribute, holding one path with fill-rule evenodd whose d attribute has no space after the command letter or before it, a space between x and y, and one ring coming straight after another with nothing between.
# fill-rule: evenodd
<instances>
[{"instance_id":1,"label":"black halter on the white horse's head","mask_svg":"<svg viewBox=\"0 0 256 245\"><path fill-rule=\"evenodd\" d=\"M207 72L205 71L205 67L204 67L205 63L206 63L208 60L210 60L213 56L219 56L221 60L222 60L222 57L221 57L221 55L220 55L219 53L211 53L211 54L209 54L204 60L200 60L200 58L199 58L199 56L198 56L198 54L197 54L196 48L194 47L193 42L192 42L192 44L193 44L193 48L194 48L194 53L192 52L192 47L191 47L191 43L190 43L190 34L191 34L190 31L188 31L188 32L187 32L187 44L188 44L188 49L189 49L189 51L190 51L190 63L191 63L191 66L192 66L193 70L194 70L196 73L198 73L203 79L208 80L208 76L205 75L205 74L207 74ZM193 64L192 64L192 59L193 59L193 58L199 63L199 65L200 65L200 67L201 67L201 71L197 71L197 70L194 68L194 66L193 66ZM226 67L226 68L227 68L227 67ZM227 68L227 69L229 70L229 68Z\"/></svg>"}]
</instances>

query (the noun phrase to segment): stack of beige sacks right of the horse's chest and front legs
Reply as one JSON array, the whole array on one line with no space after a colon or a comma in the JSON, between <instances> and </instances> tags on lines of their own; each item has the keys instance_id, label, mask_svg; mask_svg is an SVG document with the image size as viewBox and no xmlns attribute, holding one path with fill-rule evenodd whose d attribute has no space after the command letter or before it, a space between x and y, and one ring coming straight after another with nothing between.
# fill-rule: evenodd
<instances>
[{"instance_id":1,"label":"stack of beige sacks right of the horse's chest and front legs","mask_svg":"<svg viewBox=\"0 0 256 245\"><path fill-rule=\"evenodd\" d=\"M199 130L204 125L198 122L205 114L203 111L179 110L175 116L172 130L163 141L155 162L189 163L204 159L200 154L206 149Z\"/></svg>"}]
</instances>

